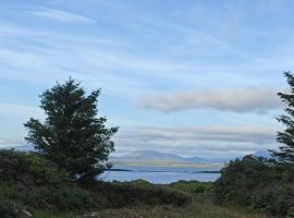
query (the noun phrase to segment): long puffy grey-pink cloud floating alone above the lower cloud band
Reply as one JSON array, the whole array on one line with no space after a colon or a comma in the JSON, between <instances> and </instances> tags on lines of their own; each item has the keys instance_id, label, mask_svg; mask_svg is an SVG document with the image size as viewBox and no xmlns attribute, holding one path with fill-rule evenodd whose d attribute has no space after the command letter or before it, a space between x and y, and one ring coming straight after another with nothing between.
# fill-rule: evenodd
<instances>
[{"instance_id":1,"label":"long puffy grey-pink cloud floating alone above the lower cloud band","mask_svg":"<svg viewBox=\"0 0 294 218\"><path fill-rule=\"evenodd\" d=\"M162 112L211 108L219 111L266 112L281 107L274 88L226 88L140 96L139 106Z\"/></svg>"}]
</instances>

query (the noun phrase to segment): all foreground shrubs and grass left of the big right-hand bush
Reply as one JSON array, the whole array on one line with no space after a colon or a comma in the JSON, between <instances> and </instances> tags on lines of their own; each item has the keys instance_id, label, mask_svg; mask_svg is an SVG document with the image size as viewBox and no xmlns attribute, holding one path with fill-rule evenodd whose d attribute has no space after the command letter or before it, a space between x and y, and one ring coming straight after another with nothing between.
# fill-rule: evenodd
<instances>
[{"instance_id":1,"label":"all foreground shrubs and grass left of the big right-hand bush","mask_svg":"<svg viewBox=\"0 0 294 218\"><path fill-rule=\"evenodd\" d=\"M213 183L144 180L76 184L34 153L0 150L0 217L25 218L264 218L213 203Z\"/></svg>"}]
</instances>

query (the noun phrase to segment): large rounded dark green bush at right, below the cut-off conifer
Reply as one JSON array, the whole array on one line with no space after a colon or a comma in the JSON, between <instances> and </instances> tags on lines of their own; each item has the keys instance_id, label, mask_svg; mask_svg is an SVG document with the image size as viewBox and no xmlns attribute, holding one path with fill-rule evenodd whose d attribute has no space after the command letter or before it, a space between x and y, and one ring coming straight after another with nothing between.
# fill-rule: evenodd
<instances>
[{"instance_id":1,"label":"large rounded dark green bush at right, below the cut-off conifer","mask_svg":"<svg viewBox=\"0 0 294 218\"><path fill-rule=\"evenodd\" d=\"M215 184L217 201L285 216L294 205L290 169L293 168L252 156L231 161L222 169Z\"/></svg>"}]
</instances>

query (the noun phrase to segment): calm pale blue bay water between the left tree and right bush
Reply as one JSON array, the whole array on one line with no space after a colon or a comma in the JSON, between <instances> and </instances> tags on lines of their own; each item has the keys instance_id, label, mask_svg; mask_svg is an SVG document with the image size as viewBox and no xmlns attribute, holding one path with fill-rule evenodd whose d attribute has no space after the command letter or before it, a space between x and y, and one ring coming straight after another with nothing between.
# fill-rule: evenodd
<instances>
[{"instance_id":1,"label":"calm pale blue bay water between the left tree and right bush","mask_svg":"<svg viewBox=\"0 0 294 218\"><path fill-rule=\"evenodd\" d=\"M113 166L113 169L130 171L107 171L101 175L101 179L105 181L132 181L143 179L151 183L167 184L179 180L208 182L216 181L220 177L220 173L199 172L218 171L220 168Z\"/></svg>"}]
</instances>

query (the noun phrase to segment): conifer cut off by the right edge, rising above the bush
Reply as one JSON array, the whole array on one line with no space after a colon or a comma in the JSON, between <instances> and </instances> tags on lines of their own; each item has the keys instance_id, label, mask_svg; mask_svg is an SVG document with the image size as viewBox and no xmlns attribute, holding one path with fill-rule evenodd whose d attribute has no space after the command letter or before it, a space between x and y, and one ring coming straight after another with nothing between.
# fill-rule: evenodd
<instances>
[{"instance_id":1,"label":"conifer cut off by the right edge, rising above the bush","mask_svg":"<svg viewBox=\"0 0 294 218\"><path fill-rule=\"evenodd\" d=\"M291 72L285 72L284 75L290 86L290 93L278 93L286 107L285 114L280 116L277 120L285 125L285 130L277 134L277 141L281 143L280 150L271 152L281 161L294 162L294 76Z\"/></svg>"}]
</instances>

